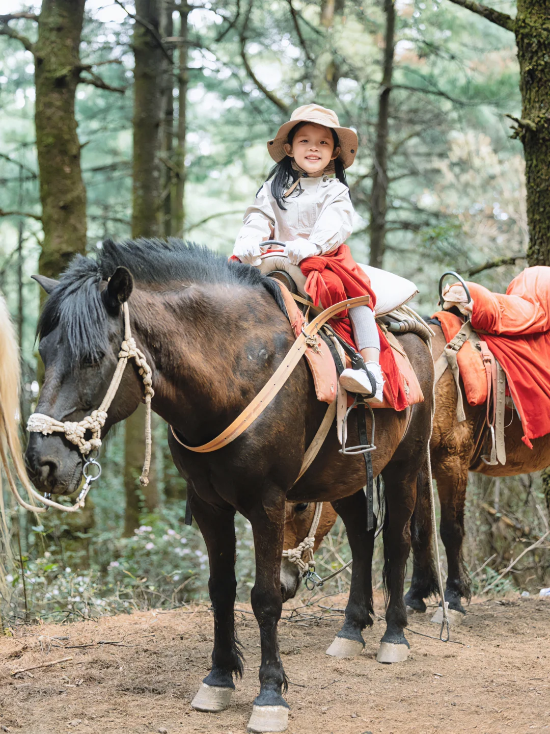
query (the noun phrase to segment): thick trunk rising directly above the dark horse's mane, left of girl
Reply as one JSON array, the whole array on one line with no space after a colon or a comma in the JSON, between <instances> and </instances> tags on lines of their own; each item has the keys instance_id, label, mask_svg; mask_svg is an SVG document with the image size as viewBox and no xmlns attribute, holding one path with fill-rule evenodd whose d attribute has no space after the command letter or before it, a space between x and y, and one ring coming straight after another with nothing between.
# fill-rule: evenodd
<instances>
[{"instance_id":1,"label":"thick trunk rising directly above the dark horse's mane, left of girl","mask_svg":"<svg viewBox=\"0 0 550 734\"><path fill-rule=\"evenodd\" d=\"M159 233L161 72L166 58L158 33L160 4L161 0L136 0L136 15L149 27L137 22L133 26L133 237Z\"/></svg>"}]
</instances>

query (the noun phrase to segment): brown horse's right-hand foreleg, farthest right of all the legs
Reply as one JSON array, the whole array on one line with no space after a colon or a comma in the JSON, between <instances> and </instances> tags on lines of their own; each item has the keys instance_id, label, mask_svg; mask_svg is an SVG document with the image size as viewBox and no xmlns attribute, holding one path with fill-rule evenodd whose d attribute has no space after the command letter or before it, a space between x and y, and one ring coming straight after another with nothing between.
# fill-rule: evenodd
<instances>
[{"instance_id":1,"label":"brown horse's right-hand foreleg, farthest right of all the legs","mask_svg":"<svg viewBox=\"0 0 550 734\"><path fill-rule=\"evenodd\" d=\"M447 553L447 586L445 600L449 602L453 614L452 622L460 624L466 610L461 598L470 598L470 582L464 567L462 542L464 539L464 505L466 504L466 484L468 484L468 465L460 457L440 462L437 468L437 489L441 504L441 524L439 531Z\"/></svg>"}]
</instances>

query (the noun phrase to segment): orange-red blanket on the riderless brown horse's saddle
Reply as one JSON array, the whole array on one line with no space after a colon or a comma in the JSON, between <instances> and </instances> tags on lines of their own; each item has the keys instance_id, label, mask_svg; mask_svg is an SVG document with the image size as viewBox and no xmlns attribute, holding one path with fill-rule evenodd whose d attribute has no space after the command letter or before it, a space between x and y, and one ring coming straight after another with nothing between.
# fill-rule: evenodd
<instances>
[{"instance_id":1,"label":"orange-red blanket on the riderless brown horse's saddle","mask_svg":"<svg viewBox=\"0 0 550 734\"><path fill-rule=\"evenodd\" d=\"M524 429L523 441L532 448L532 439L550 433L550 267L526 268L505 294L491 293L477 283L467 285L474 302L472 328L483 333L504 369ZM458 316L446 311L434 317L441 321L447 342L462 326ZM487 396L486 386L482 387L485 370L474 353L466 342L457 355L458 368L469 403L481 404Z\"/></svg>"}]
</instances>

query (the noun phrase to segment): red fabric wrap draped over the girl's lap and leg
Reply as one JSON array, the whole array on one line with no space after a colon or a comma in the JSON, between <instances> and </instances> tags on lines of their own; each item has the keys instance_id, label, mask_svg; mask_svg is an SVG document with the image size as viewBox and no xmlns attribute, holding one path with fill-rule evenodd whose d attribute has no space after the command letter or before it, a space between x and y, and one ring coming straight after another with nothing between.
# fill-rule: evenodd
<instances>
[{"instance_id":1,"label":"red fabric wrap draped over the girl's lap and leg","mask_svg":"<svg viewBox=\"0 0 550 734\"><path fill-rule=\"evenodd\" d=\"M329 255L314 255L302 260L300 269L307 277L306 293L312 298L315 306L320 303L322 308L329 308L346 298L368 295L370 296L370 308L374 310L376 297L370 287L370 279L353 260L347 244L341 244ZM330 319L329 324L340 338L356 349L348 309L342 311L342 316L337 319ZM380 335L380 366L386 377L384 396L386 397L389 393L387 395L389 404L395 410L404 410L408 406L408 400L395 362L395 355L386 336L379 328L378 334Z\"/></svg>"}]
</instances>

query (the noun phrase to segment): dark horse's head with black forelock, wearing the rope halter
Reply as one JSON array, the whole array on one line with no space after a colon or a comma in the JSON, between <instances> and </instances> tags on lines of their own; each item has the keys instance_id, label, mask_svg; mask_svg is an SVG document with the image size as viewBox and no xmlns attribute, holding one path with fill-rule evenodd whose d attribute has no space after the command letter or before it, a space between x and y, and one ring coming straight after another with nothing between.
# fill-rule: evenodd
<instances>
[{"instance_id":1,"label":"dark horse's head with black forelock, wearing the rope halter","mask_svg":"<svg viewBox=\"0 0 550 734\"><path fill-rule=\"evenodd\" d=\"M117 366L121 305L131 294L132 276L119 267L107 281L95 261L77 258L59 281L34 278L48 293L38 327L45 377L36 413L81 421L100 406ZM136 371L126 369L101 435L133 413L142 395ZM32 432L25 458L38 490L67 495L78 489L84 457L63 433Z\"/></svg>"}]
</instances>

